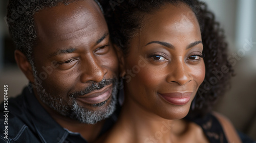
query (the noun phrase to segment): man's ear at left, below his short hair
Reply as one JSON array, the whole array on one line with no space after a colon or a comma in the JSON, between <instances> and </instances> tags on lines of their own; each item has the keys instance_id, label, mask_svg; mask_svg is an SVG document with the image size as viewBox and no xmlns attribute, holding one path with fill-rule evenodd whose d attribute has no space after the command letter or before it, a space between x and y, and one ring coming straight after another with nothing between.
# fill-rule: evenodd
<instances>
[{"instance_id":1,"label":"man's ear at left, below his short hair","mask_svg":"<svg viewBox=\"0 0 256 143\"><path fill-rule=\"evenodd\" d=\"M14 57L20 70L22 70L30 82L34 83L32 67L27 57L19 50L15 50Z\"/></svg>"}]
</instances>

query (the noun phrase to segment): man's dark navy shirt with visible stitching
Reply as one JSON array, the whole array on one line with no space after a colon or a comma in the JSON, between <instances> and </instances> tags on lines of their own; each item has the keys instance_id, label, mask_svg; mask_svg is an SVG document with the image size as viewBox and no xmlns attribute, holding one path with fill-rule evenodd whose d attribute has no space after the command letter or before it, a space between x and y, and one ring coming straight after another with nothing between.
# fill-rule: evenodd
<instances>
[{"instance_id":1,"label":"man's dark navy shirt with visible stitching","mask_svg":"<svg viewBox=\"0 0 256 143\"><path fill-rule=\"evenodd\" d=\"M117 107L118 108L118 107ZM4 115L4 103L0 105L0 142L20 143L78 143L87 142L79 133L61 127L39 104L29 87L25 87L20 96L8 100L8 117ZM4 121L8 120L8 125ZM101 134L117 120L117 111L108 119ZM6 126L8 136L6 139Z\"/></svg>"}]
</instances>

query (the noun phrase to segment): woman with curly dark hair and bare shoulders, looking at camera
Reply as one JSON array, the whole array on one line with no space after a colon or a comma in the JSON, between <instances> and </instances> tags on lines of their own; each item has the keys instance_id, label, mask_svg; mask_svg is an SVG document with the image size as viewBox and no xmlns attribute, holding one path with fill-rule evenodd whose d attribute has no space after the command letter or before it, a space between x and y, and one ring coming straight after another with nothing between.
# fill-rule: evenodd
<instances>
[{"instance_id":1,"label":"woman with curly dark hair and bare shoulders, looking at camera","mask_svg":"<svg viewBox=\"0 0 256 143\"><path fill-rule=\"evenodd\" d=\"M142 0L114 8L108 21L125 100L100 142L241 142L231 123L210 110L232 69L206 5Z\"/></svg>"}]
</instances>

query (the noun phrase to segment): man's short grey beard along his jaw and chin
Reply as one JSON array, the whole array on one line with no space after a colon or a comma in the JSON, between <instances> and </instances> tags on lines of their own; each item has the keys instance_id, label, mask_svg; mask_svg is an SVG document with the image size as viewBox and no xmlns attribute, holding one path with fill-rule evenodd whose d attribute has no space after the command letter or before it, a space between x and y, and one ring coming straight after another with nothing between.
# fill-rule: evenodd
<instances>
[{"instance_id":1,"label":"man's short grey beard along his jaw and chin","mask_svg":"<svg viewBox=\"0 0 256 143\"><path fill-rule=\"evenodd\" d=\"M35 67L32 66L34 69L34 77L37 81L41 81L37 76L37 70ZM50 93L47 93L46 89L42 86L41 82L36 85L36 91L39 95L40 100L48 105L50 108L54 109L58 113L63 116L67 116L72 118L73 120L79 121L81 123L86 124L96 124L97 122L104 120L105 118L109 117L116 109L117 103L117 86L118 82L117 79L114 80L113 87L112 87L112 96L110 97L110 103L106 108L101 110L92 111L87 108L80 106L74 98L70 98L68 101L63 100L61 96L53 96ZM104 101L98 104L93 104L92 107L97 108L100 107L108 101Z\"/></svg>"}]
</instances>

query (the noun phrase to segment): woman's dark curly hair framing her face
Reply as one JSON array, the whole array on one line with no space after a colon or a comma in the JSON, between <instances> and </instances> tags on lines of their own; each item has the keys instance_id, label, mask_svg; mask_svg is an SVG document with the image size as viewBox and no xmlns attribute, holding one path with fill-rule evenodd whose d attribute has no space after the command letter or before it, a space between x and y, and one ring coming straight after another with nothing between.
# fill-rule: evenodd
<instances>
[{"instance_id":1,"label":"woman's dark curly hair framing her face","mask_svg":"<svg viewBox=\"0 0 256 143\"><path fill-rule=\"evenodd\" d=\"M205 3L197 0L124 0L115 7L102 2L113 43L124 54L129 52L130 40L143 28L142 20L146 14L154 13L166 3L178 5L185 3L196 14L199 21L206 74L197 95L191 104L188 117L204 115L211 111L212 105L229 87L233 69L227 61L227 43L223 30L215 20L215 15L207 9ZM171 18L171 17L170 17Z\"/></svg>"}]
</instances>

